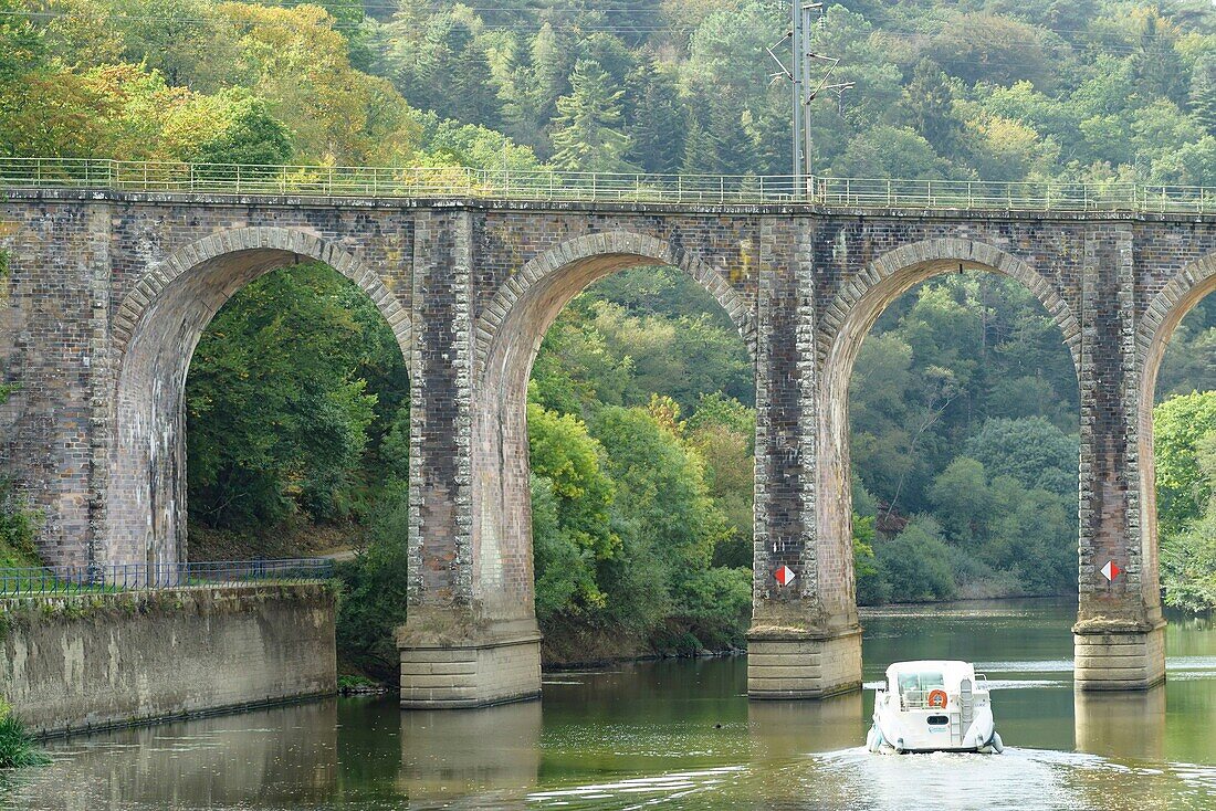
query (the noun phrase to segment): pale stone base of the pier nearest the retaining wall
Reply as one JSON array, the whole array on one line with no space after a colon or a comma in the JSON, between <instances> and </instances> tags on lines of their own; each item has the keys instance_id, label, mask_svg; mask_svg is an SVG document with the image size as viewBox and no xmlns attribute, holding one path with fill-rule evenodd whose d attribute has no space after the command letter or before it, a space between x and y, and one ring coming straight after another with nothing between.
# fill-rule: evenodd
<instances>
[{"instance_id":1,"label":"pale stone base of the pier nearest the retaining wall","mask_svg":"<svg viewBox=\"0 0 1216 811\"><path fill-rule=\"evenodd\" d=\"M411 613L398 630L402 708L490 706L540 695L536 620L472 625L444 614Z\"/></svg>"}]
</instances>

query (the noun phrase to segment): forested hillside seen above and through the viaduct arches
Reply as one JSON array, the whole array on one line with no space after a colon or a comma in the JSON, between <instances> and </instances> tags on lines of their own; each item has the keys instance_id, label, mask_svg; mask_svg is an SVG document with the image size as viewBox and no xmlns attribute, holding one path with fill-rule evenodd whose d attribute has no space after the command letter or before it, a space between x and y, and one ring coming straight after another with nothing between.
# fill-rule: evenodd
<instances>
[{"instance_id":1,"label":"forested hillside seen above and through the viaduct arches","mask_svg":"<svg viewBox=\"0 0 1216 811\"><path fill-rule=\"evenodd\" d=\"M745 0L0 0L0 157L787 174L789 89L765 52L787 17ZM814 108L820 174L1216 185L1205 0L862 0L829 5L812 39L854 83ZM1206 303L1158 395L1212 389ZM671 270L606 280L550 331L530 393L550 654L737 641L755 417L725 314ZM1015 283L951 275L900 299L850 388L862 599L1075 590L1076 401ZM1177 473L1169 593L1195 608L1216 601L1200 401L1161 406L1159 466ZM259 280L199 344L187 410L195 553L366 547L343 635L356 664L390 666L409 382L375 309L323 267Z\"/></svg>"}]
</instances>

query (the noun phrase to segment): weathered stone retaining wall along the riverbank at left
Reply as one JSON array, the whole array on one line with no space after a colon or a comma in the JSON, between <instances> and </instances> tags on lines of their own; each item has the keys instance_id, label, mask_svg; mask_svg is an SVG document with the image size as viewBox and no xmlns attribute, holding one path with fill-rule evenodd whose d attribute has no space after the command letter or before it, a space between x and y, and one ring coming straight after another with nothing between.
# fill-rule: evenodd
<instances>
[{"instance_id":1,"label":"weathered stone retaining wall along the riverbank at left","mask_svg":"<svg viewBox=\"0 0 1216 811\"><path fill-rule=\"evenodd\" d=\"M191 587L0 602L0 695L38 733L337 689L323 585Z\"/></svg>"}]
</instances>

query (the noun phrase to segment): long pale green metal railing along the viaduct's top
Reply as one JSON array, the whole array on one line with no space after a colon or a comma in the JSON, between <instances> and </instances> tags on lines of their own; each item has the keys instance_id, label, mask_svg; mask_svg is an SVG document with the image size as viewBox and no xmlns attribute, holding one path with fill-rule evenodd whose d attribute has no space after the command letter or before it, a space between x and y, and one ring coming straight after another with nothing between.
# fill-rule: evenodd
<instances>
[{"instance_id":1,"label":"long pale green metal railing along the viaduct's top","mask_svg":"<svg viewBox=\"0 0 1216 811\"><path fill-rule=\"evenodd\" d=\"M662 175L463 167L192 164L0 158L6 188L79 188L298 197L765 204L1017 212L1216 213L1216 187L1054 181L895 180L788 175Z\"/></svg>"}]
</instances>

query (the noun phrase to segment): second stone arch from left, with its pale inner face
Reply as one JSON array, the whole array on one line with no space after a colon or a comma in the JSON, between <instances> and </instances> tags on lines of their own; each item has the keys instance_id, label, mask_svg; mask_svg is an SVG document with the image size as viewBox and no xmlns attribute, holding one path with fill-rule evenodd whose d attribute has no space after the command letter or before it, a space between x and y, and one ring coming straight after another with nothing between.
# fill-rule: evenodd
<instances>
[{"instance_id":1,"label":"second stone arch from left, with its pale inner face","mask_svg":"<svg viewBox=\"0 0 1216 811\"><path fill-rule=\"evenodd\" d=\"M653 236L575 237L527 263L475 323L473 345L472 537L474 599L496 619L535 623L527 389L545 332L592 282L640 265L688 274L727 311L755 360L754 315L725 276Z\"/></svg>"}]
</instances>

